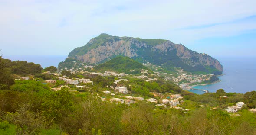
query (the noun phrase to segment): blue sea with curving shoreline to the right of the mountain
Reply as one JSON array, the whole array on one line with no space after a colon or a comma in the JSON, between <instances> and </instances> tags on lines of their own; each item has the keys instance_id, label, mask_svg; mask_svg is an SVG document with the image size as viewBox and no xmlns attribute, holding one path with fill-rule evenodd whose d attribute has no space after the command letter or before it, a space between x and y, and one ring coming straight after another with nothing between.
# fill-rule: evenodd
<instances>
[{"instance_id":1,"label":"blue sea with curving shoreline to the right of the mountain","mask_svg":"<svg viewBox=\"0 0 256 135\"><path fill-rule=\"evenodd\" d=\"M205 86L195 86L195 89L216 92L223 89L228 92L246 93L256 90L256 57L214 57L224 67L220 82ZM197 94L203 94L201 90L189 90Z\"/></svg>"}]
</instances>

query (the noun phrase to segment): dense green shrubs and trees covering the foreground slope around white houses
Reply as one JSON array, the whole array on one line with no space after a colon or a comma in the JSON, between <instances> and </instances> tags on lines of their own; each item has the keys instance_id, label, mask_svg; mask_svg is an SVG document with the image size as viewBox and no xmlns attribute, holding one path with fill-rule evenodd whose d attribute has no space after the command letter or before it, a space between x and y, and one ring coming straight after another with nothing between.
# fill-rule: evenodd
<instances>
[{"instance_id":1,"label":"dense green shrubs and trees covering the foreground slope around white houses","mask_svg":"<svg viewBox=\"0 0 256 135\"><path fill-rule=\"evenodd\" d=\"M1 79L12 76L1 57L0 66ZM58 87L63 82L58 80L56 84L43 84L43 81L35 78L36 80L16 80L15 84L14 81L12 84L4 84L0 80L1 86L8 86L0 90L0 134L253 135L256 132L256 113L247 110L256 107L255 91L241 94L226 93L220 89L216 93L197 95L181 90L176 84L161 78L146 82L128 76L124 77L128 81L118 83L127 87L131 92L128 95L147 99L154 97L149 92L158 92L162 96L154 98L159 102L169 93L180 93L184 99L180 100L179 107L184 110L154 106L145 101L128 106L101 100L102 97L114 97L102 91L113 91L107 86L113 85L116 77L91 74L75 76L91 79L94 85L84 84L86 87L81 89L70 84L70 89L63 87L59 91L53 91L50 87ZM118 93L116 94L115 97L118 97ZM223 110L239 101L244 101L246 106L236 115Z\"/></svg>"}]
</instances>

